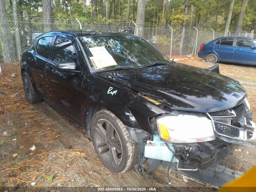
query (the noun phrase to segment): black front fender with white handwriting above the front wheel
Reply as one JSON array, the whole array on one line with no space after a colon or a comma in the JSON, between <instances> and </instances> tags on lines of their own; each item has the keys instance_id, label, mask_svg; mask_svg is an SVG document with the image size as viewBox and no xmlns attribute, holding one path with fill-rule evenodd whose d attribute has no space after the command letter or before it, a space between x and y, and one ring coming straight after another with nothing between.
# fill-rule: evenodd
<instances>
[{"instance_id":1,"label":"black front fender with white handwriting above the front wheel","mask_svg":"<svg viewBox=\"0 0 256 192\"><path fill-rule=\"evenodd\" d=\"M94 78L93 81L90 78ZM95 78L95 76L90 76L90 78L85 78L82 86L82 124L84 128L88 130L86 116L92 108L96 107L106 108L115 114L125 126L142 129L152 134L148 119L156 114L165 113L164 110L124 86ZM109 94L110 87L116 91L116 94ZM88 120L90 121L90 119Z\"/></svg>"}]
</instances>

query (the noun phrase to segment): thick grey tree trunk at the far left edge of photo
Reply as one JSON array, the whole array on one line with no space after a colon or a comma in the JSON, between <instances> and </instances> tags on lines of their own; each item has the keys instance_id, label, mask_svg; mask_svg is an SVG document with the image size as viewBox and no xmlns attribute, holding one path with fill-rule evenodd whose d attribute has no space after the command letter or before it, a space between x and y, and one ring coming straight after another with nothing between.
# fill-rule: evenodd
<instances>
[{"instance_id":1,"label":"thick grey tree trunk at the far left edge of photo","mask_svg":"<svg viewBox=\"0 0 256 192\"><path fill-rule=\"evenodd\" d=\"M0 0L0 41L2 45L4 63L16 61L16 57L13 54L15 48L12 42L12 35L9 26L10 24L6 17L5 2L4 0Z\"/></svg>"}]
</instances>

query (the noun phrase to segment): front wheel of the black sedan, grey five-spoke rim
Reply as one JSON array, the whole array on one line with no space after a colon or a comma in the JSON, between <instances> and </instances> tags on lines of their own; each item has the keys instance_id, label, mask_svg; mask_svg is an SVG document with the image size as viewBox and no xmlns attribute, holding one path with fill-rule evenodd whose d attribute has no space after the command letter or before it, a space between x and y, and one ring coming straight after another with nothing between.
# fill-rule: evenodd
<instances>
[{"instance_id":1,"label":"front wheel of the black sedan, grey five-spoke rim","mask_svg":"<svg viewBox=\"0 0 256 192\"><path fill-rule=\"evenodd\" d=\"M98 157L111 172L126 172L138 162L137 146L132 145L126 127L112 112L104 109L95 114L91 134Z\"/></svg>"}]
</instances>

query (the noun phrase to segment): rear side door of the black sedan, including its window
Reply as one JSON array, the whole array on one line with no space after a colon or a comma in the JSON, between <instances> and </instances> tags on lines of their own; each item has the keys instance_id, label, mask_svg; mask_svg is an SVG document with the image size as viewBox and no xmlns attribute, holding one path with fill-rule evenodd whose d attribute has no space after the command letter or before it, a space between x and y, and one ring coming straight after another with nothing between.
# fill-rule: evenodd
<instances>
[{"instance_id":1,"label":"rear side door of the black sedan, including its window","mask_svg":"<svg viewBox=\"0 0 256 192\"><path fill-rule=\"evenodd\" d=\"M44 96L48 93L45 67L49 59L50 47L52 46L53 39L53 36L46 36L35 42L36 64L31 67L36 88Z\"/></svg>"}]
</instances>

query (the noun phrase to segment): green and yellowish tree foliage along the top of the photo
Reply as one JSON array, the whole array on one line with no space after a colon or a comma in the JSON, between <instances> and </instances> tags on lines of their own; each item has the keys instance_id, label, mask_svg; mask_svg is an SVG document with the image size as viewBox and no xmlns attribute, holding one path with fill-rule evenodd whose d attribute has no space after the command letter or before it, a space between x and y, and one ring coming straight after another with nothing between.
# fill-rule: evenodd
<instances>
[{"instance_id":1,"label":"green and yellowish tree foliage along the top of the photo","mask_svg":"<svg viewBox=\"0 0 256 192\"><path fill-rule=\"evenodd\" d=\"M10 1L5 0L7 12L12 13ZM21 2L21 4L20 4ZM31 12L33 20L42 16L42 0L18 0L18 14L28 16ZM60 22L70 22L70 18L78 18L83 21L86 19L105 20L100 12L100 0L96 0L95 10L98 10L98 17L94 18L91 14L91 0L52 0L52 16L61 18ZM122 0L115 0L116 20L120 20L122 12ZM215 30L224 30L226 25L227 14L230 6L230 0L167 0L166 16L163 15L163 4L166 0L147 0L145 21L156 24L168 24L181 26L184 20L187 20L187 26L190 24L191 15L193 17L192 26L200 26L203 28L214 28ZM184 15L184 5L187 2L188 15ZM230 31L236 27L236 22L241 8L242 0L235 0L230 23ZM130 4L130 19L133 16L133 0ZM135 18L138 0L135 0ZM106 0L104 0L106 6ZM194 11L191 13L191 5ZM246 6L243 25L244 29L252 30L256 25L256 0L249 0ZM70 10L71 7L71 10ZM113 0L110 0L110 18L112 15ZM94 10L94 11L95 11ZM124 6L124 20L126 19L127 0ZM158 21L157 21L158 17Z\"/></svg>"}]
</instances>

